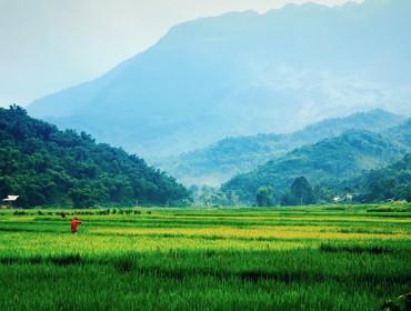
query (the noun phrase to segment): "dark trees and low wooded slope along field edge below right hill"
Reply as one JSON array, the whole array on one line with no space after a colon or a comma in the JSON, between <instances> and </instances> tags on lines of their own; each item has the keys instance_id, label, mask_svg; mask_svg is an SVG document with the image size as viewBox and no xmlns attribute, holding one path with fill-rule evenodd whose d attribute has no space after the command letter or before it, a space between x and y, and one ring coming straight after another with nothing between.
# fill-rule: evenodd
<instances>
[{"instance_id":1,"label":"dark trees and low wooded slope along field edge below right hill","mask_svg":"<svg viewBox=\"0 0 411 311\"><path fill-rule=\"evenodd\" d=\"M290 181L291 182L291 181ZM235 205L240 195L235 191L223 192L202 187L192 189L197 201L208 205ZM304 205L314 203L378 203L389 201L411 202L411 153L388 167L374 169L362 174L340 180L333 184L312 187L305 177L295 178L282 192L274 192L271 185L260 185L255 190L254 202L258 207Z\"/></svg>"}]
</instances>

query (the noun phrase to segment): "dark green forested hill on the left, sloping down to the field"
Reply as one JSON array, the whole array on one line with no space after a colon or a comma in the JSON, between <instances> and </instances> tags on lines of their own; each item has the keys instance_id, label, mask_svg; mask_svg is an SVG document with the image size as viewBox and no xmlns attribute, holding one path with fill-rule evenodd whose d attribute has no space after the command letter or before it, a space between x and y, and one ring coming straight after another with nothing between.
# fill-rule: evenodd
<instances>
[{"instance_id":1,"label":"dark green forested hill on the left, sloping down to the field","mask_svg":"<svg viewBox=\"0 0 411 311\"><path fill-rule=\"evenodd\" d=\"M0 108L0 197L18 204L91 207L179 204L189 193L173 178L84 132L60 131L20 107Z\"/></svg>"}]
</instances>

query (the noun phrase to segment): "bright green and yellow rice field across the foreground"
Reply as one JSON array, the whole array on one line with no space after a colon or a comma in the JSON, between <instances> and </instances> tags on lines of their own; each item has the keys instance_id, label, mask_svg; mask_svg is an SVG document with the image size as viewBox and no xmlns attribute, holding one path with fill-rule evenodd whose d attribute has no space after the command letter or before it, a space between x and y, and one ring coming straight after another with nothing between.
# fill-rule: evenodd
<instances>
[{"instance_id":1,"label":"bright green and yellow rice field across the foreground","mask_svg":"<svg viewBox=\"0 0 411 311\"><path fill-rule=\"evenodd\" d=\"M378 310L411 291L407 205L57 212L0 210L0 310Z\"/></svg>"}]
</instances>

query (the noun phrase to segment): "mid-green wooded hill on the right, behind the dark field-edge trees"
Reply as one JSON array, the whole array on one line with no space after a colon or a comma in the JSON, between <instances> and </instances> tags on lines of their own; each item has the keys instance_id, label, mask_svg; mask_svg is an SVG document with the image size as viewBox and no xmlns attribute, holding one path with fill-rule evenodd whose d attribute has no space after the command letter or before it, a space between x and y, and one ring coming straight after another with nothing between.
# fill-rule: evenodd
<instances>
[{"instance_id":1,"label":"mid-green wooded hill on the right, behind the dark field-edge trees","mask_svg":"<svg viewBox=\"0 0 411 311\"><path fill-rule=\"evenodd\" d=\"M257 189L269 185L279 199L301 175L312 185L339 188L347 179L399 160L411 150L408 143L410 136L410 120L380 134L350 130L337 138L298 148L249 173L239 174L224 183L222 190L227 193L234 191L243 201L253 202ZM394 137L397 140L392 139Z\"/></svg>"}]
</instances>

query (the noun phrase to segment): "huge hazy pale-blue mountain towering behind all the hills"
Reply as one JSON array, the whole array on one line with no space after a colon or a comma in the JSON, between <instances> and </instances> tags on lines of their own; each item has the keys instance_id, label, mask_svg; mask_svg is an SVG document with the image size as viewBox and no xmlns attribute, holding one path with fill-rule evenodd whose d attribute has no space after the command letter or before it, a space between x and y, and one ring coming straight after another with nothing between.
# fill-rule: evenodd
<instances>
[{"instance_id":1,"label":"huge hazy pale-blue mountain towering behind all the hills","mask_svg":"<svg viewBox=\"0 0 411 311\"><path fill-rule=\"evenodd\" d=\"M150 158L372 108L410 114L410 29L408 0L199 19L28 111Z\"/></svg>"}]
</instances>

